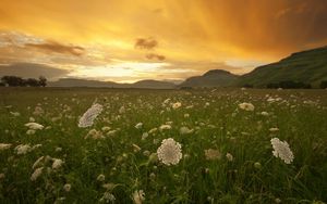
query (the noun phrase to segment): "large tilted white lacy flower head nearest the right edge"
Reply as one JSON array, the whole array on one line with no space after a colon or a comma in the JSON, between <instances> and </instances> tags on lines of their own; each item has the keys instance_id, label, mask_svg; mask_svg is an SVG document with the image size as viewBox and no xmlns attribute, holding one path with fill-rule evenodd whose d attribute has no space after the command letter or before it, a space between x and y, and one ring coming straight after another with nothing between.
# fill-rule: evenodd
<instances>
[{"instance_id":1,"label":"large tilted white lacy flower head nearest the right edge","mask_svg":"<svg viewBox=\"0 0 327 204\"><path fill-rule=\"evenodd\" d=\"M280 141L278 138L272 138L270 142L274 148L274 156L280 157L286 164L291 164L293 162L294 155L287 141Z\"/></svg>"}]
</instances>

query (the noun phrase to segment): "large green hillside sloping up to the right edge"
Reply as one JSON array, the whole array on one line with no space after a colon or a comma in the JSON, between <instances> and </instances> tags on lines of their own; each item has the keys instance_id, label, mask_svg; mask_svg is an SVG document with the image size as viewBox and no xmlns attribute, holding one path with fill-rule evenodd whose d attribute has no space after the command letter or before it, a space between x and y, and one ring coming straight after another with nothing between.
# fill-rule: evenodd
<instances>
[{"instance_id":1,"label":"large green hillside sloping up to the right edge","mask_svg":"<svg viewBox=\"0 0 327 204\"><path fill-rule=\"evenodd\" d=\"M259 66L241 76L238 86L267 87L280 81L298 81L318 87L327 80L327 47L296 52L279 62Z\"/></svg>"}]
</instances>

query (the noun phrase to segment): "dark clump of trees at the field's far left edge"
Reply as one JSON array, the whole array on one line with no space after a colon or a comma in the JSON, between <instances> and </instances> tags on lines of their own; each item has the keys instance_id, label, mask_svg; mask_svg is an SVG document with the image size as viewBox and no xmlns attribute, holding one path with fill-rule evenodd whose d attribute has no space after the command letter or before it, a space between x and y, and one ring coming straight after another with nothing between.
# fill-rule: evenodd
<instances>
[{"instance_id":1,"label":"dark clump of trees at the field's far left edge","mask_svg":"<svg viewBox=\"0 0 327 204\"><path fill-rule=\"evenodd\" d=\"M47 86L47 78L40 76L38 79L36 78L27 78L24 79L17 76L3 76L1 77L1 87L45 87Z\"/></svg>"}]
</instances>

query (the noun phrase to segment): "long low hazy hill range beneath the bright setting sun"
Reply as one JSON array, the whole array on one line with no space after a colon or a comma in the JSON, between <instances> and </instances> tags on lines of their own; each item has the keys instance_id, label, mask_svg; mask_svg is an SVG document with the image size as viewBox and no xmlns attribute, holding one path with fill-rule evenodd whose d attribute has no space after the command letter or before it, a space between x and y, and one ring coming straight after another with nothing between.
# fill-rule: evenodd
<instances>
[{"instance_id":1,"label":"long low hazy hill range beneath the bright setting sun","mask_svg":"<svg viewBox=\"0 0 327 204\"><path fill-rule=\"evenodd\" d=\"M49 87L102 87L102 88L142 88L142 89L172 89L174 84L159 80L140 80L134 84L119 84L112 81L87 80L77 78L61 78L49 81Z\"/></svg>"}]
</instances>

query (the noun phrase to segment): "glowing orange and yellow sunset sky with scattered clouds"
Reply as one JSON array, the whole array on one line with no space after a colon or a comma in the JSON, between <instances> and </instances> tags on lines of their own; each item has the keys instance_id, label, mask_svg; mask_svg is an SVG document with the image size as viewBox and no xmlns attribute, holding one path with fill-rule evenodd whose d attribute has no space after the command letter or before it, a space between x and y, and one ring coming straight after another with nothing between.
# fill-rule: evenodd
<instances>
[{"instance_id":1,"label":"glowing orange and yellow sunset sky with scattered clouds","mask_svg":"<svg viewBox=\"0 0 327 204\"><path fill-rule=\"evenodd\" d=\"M325 0L0 0L0 75L181 80L326 44Z\"/></svg>"}]
</instances>

